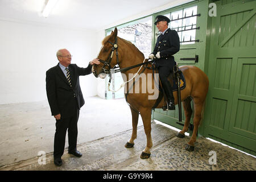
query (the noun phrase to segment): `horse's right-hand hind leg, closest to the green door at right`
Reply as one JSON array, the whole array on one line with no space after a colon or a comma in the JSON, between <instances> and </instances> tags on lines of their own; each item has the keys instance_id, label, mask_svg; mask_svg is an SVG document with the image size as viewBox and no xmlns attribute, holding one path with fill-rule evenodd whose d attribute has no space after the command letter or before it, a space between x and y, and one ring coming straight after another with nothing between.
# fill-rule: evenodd
<instances>
[{"instance_id":1,"label":"horse's right-hand hind leg, closest to the green door at right","mask_svg":"<svg viewBox=\"0 0 256 182\"><path fill-rule=\"evenodd\" d=\"M194 144L196 142L196 134L200 124L201 111L203 109L203 104L204 104L204 100L202 100L201 98L197 98L197 97L193 98L193 101L194 101L194 107L195 107L195 115L193 118L194 129L193 129L192 137L189 140L187 147L185 148L187 151L193 151L195 148Z\"/></svg>"}]
</instances>

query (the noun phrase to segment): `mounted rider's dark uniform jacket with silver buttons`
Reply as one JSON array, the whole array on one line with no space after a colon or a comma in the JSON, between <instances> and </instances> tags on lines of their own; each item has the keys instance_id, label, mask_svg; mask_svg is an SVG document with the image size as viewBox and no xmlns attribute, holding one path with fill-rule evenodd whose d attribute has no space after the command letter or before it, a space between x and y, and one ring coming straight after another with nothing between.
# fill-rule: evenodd
<instances>
[{"instance_id":1,"label":"mounted rider's dark uniform jacket with silver buttons","mask_svg":"<svg viewBox=\"0 0 256 182\"><path fill-rule=\"evenodd\" d=\"M160 52L160 59L156 60L156 66L168 66L173 67L174 55L180 50L180 38L175 30L170 28L164 33L164 35L158 36L158 39L155 44L154 51L152 52L156 55L157 52Z\"/></svg>"}]
</instances>

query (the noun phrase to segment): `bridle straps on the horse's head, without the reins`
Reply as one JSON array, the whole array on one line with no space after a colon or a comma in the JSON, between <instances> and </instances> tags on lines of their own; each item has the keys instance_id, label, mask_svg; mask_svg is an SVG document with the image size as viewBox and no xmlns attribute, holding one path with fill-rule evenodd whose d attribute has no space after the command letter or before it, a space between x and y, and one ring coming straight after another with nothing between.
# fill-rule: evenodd
<instances>
[{"instance_id":1,"label":"bridle straps on the horse's head, without the reins","mask_svg":"<svg viewBox=\"0 0 256 182\"><path fill-rule=\"evenodd\" d=\"M110 74L110 69L112 69L111 61L112 61L115 49L116 49L115 55L117 56L117 65L119 66L118 51L117 51L117 49L118 49L117 37L115 38L115 43L112 43L109 40L108 40L108 43L112 44L112 46L113 46L110 53L109 53L108 59L107 60L99 59L99 61L104 64L103 67L102 67L102 72L101 73L106 73L106 74ZM109 67L109 69L106 69L105 67ZM114 68L119 68L119 67L114 67Z\"/></svg>"}]
</instances>

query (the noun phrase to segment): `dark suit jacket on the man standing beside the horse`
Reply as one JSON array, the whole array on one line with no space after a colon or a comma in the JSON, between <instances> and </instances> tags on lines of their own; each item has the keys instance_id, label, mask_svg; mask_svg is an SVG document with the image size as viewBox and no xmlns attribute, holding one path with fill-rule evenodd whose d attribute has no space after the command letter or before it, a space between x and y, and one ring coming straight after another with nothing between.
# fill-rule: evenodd
<instances>
[{"instance_id":1,"label":"dark suit jacket on the man standing beside the horse","mask_svg":"<svg viewBox=\"0 0 256 182\"><path fill-rule=\"evenodd\" d=\"M92 65L90 64L87 68L80 68L76 64L70 64L68 68L72 87L69 85L59 63L46 72L46 92L51 113L52 115L60 114L61 118L71 117L76 105L77 109L84 105L79 76L92 73Z\"/></svg>"}]
</instances>

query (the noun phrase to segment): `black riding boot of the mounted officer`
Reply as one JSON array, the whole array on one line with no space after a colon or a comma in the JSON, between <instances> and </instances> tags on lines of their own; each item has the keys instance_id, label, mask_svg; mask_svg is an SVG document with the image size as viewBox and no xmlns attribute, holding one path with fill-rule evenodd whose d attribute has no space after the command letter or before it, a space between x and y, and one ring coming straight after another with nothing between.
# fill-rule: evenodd
<instances>
[{"instance_id":1,"label":"black riding boot of the mounted officer","mask_svg":"<svg viewBox=\"0 0 256 182\"><path fill-rule=\"evenodd\" d=\"M168 103L163 107L164 111L175 110L174 95L172 94L172 87L169 81L162 82L164 93L166 93Z\"/></svg>"}]
</instances>

